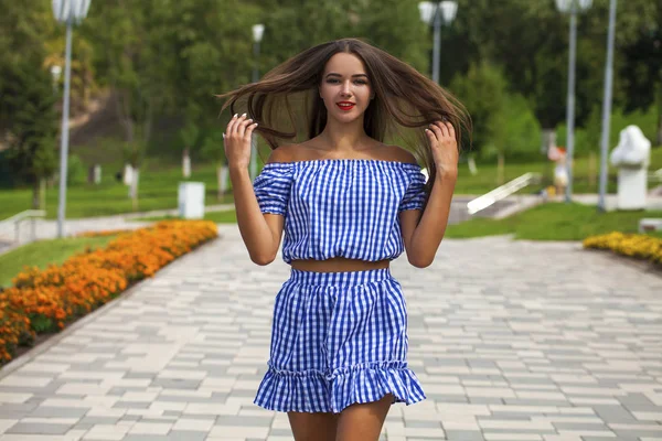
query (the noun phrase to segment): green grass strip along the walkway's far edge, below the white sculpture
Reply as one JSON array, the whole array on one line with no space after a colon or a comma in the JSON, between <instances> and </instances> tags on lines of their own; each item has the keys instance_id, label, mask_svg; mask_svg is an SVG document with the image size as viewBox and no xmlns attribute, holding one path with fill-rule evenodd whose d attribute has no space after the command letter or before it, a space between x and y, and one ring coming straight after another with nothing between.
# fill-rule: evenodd
<instances>
[{"instance_id":1,"label":"green grass strip along the walkway's far edge, below the white sculpture","mask_svg":"<svg viewBox=\"0 0 662 441\"><path fill-rule=\"evenodd\" d=\"M469 238L513 234L515 239L583 240L587 236L610 232L637 233L642 217L662 217L662 212L598 213L595 206L547 203L505 219L473 218L449 225L448 238ZM662 236L662 235L658 235Z\"/></svg>"}]
</instances>

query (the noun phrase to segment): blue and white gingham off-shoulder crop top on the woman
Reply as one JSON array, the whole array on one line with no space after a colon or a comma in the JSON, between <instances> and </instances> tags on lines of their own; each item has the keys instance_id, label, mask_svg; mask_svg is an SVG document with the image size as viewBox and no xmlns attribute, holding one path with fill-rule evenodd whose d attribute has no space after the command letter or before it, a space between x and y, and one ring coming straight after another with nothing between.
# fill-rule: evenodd
<instances>
[{"instance_id":1,"label":"blue and white gingham off-shoulder crop top on the woman","mask_svg":"<svg viewBox=\"0 0 662 441\"><path fill-rule=\"evenodd\" d=\"M421 209L414 163L371 159L269 162L253 186L263 213L285 216L282 259L377 261L405 249L398 213Z\"/></svg>"}]
</instances>

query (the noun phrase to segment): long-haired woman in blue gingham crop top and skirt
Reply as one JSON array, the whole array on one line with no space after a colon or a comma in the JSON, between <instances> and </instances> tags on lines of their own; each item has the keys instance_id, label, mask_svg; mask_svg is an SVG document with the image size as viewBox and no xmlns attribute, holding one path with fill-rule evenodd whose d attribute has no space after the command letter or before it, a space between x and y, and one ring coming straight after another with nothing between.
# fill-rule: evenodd
<instances>
[{"instance_id":1,"label":"long-haired woman in blue gingham crop top and skirt","mask_svg":"<svg viewBox=\"0 0 662 441\"><path fill-rule=\"evenodd\" d=\"M274 261L285 230L291 266L255 402L288 412L297 441L377 440L393 402L425 398L407 367L405 299L388 263L405 250L416 267L433 262L467 114L434 82L355 39L309 49L222 97L233 114L247 109L224 143L250 259ZM302 127L299 142L281 141ZM383 143L399 135L406 144L402 128L416 129L409 142L427 183L412 153ZM256 130L274 150L252 183Z\"/></svg>"}]
</instances>

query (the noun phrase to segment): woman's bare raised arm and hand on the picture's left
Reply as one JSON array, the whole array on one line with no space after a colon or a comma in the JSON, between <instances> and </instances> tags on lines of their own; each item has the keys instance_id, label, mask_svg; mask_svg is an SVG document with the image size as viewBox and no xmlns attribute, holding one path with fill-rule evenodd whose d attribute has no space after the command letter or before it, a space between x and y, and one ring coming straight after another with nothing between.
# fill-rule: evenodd
<instances>
[{"instance_id":1,"label":"woman's bare raised arm and hand on the picture's left","mask_svg":"<svg viewBox=\"0 0 662 441\"><path fill-rule=\"evenodd\" d=\"M268 265L276 259L284 216L261 213L257 196L248 174L250 162L250 136L257 123L246 119L246 114L235 115L223 135L225 154L229 168L237 224L242 239L248 249L250 260L257 265Z\"/></svg>"}]
</instances>

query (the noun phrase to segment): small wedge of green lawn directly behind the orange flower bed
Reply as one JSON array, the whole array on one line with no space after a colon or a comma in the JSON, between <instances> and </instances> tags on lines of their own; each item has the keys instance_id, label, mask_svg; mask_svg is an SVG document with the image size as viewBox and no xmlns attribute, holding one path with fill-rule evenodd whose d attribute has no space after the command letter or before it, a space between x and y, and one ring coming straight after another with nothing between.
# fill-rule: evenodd
<instances>
[{"instance_id":1,"label":"small wedge of green lawn directly behind the orange flower bed","mask_svg":"<svg viewBox=\"0 0 662 441\"><path fill-rule=\"evenodd\" d=\"M104 236L39 240L0 255L0 287L11 286L11 279L25 266L46 268L49 263L62 263L87 247L105 247L114 238L115 236Z\"/></svg>"}]
</instances>

